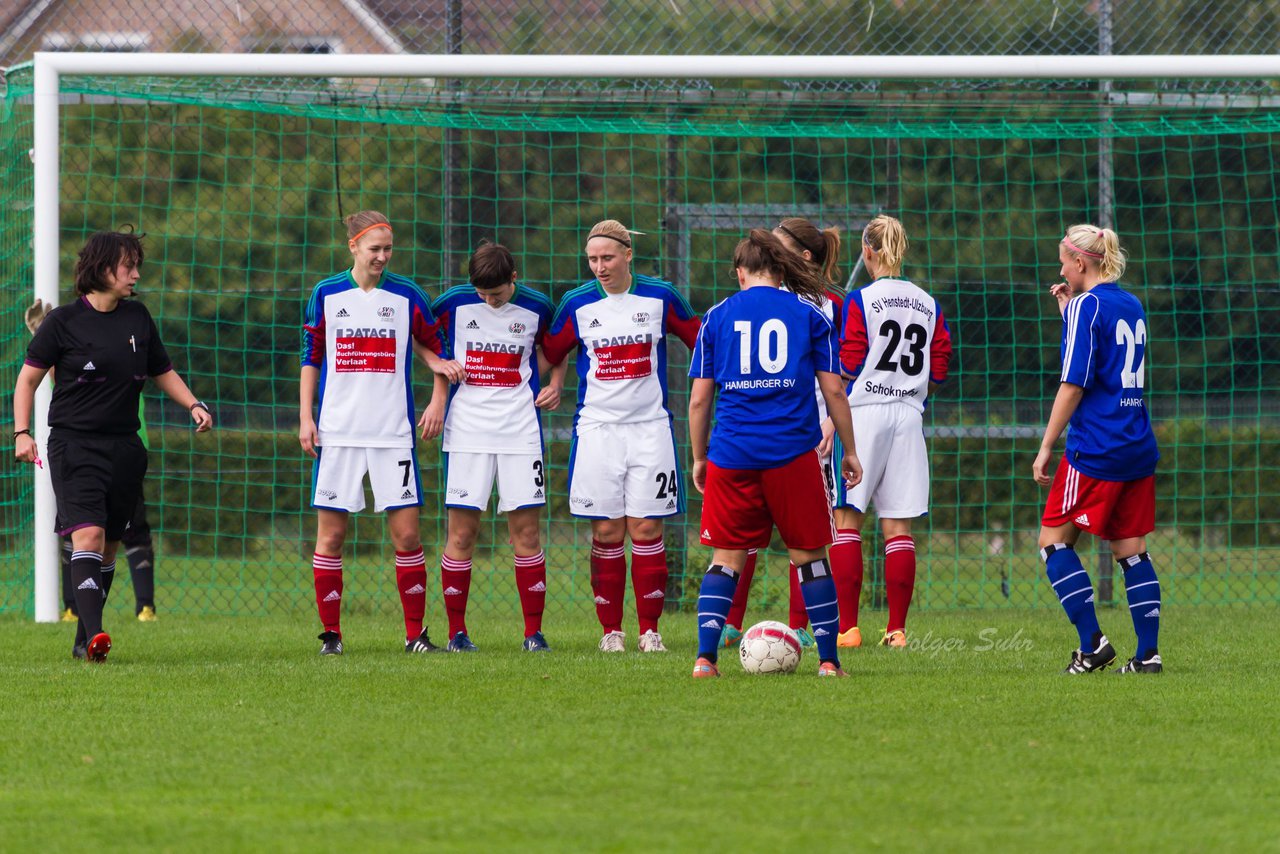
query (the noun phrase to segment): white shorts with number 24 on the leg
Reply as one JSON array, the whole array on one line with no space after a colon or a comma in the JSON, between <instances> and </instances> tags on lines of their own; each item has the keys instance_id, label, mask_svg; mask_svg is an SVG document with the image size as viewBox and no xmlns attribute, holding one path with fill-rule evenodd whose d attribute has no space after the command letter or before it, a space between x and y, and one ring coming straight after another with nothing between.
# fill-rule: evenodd
<instances>
[{"instance_id":1,"label":"white shorts with number 24 on the leg","mask_svg":"<svg viewBox=\"0 0 1280 854\"><path fill-rule=\"evenodd\" d=\"M568 510L582 519L655 519L685 510L669 421L602 424L573 438Z\"/></svg>"}]
</instances>

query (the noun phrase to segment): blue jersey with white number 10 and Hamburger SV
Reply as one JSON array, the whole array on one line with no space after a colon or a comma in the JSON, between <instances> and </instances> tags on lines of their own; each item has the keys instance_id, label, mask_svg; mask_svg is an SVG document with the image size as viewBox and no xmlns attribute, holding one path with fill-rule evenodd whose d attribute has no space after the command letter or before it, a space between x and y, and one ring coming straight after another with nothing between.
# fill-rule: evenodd
<instances>
[{"instance_id":1,"label":"blue jersey with white number 10 and Hamburger SV","mask_svg":"<svg viewBox=\"0 0 1280 854\"><path fill-rule=\"evenodd\" d=\"M818 306L754 287L712 307L689 369L718 389L708 458L723 469L773 469L818 447L818 371L840 373L836 328Z\"/></svg>"}]
</instances>

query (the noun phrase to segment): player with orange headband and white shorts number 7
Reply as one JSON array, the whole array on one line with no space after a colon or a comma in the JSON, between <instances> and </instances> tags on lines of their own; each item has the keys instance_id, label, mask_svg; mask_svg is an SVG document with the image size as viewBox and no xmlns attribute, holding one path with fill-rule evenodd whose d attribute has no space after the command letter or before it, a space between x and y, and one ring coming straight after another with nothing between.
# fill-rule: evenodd
<instances>
[{"instance_id":1,"label":"player with orange headband and white shorts number 7","mask_svg":"<svg viewBox=\"0 0 1280 854\"><path fill-rule=\"evenodd\" d=\"M374 508L387 511L396 547L404 652L434 652L422 625L426 563L419 535L422 490L413 452L413 353L451 382L462 379L463 370L439 357L442 342L426 293L387 269L392 257L387 216L365 210L348 216L346 225L352 266L315 287L302 326L298 440L316 461L311 568L324 626L320 654L343 652L342 547L347 520L365 508L366 474ZM443 394L433 394L422 419L429 435L439 434L443 416Z\"/></svg>"}]
</instances>

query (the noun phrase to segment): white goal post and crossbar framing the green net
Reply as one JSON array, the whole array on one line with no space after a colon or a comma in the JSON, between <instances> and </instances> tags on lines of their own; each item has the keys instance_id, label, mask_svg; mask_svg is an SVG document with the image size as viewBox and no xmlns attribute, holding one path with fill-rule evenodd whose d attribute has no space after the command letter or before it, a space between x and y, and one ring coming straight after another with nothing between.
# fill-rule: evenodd
<instances>
[{"instance_id":1,"label":"white goal post and crossbar framing the green net","mask_svg":"<svg viewBox=\"0 0 1280 854\"><path fill-rule=\"evenodd\" d=\"M127 77L655 78L655 79L1258 79L1280 55L1234 56L593 56L37 52L33 61L35 297L58 302L59 104L64 74ZM831 97L840 97L832 93ZM47 447L50 384L33 433ZM59 617L59 561L47 470L35 472L35 616Z\"/></svg>"}]
</instances>

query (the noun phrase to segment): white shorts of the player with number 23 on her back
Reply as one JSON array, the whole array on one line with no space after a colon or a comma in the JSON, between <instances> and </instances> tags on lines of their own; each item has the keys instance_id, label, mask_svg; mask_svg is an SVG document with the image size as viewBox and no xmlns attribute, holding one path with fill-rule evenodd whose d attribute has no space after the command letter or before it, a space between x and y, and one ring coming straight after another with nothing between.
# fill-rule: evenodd
<instances>
[{"instance_id":1,"label":"white shorts of the player with number 23 on her back","mask_svg":"<svg viewBox=\"0 0 1280 854\"><path fill-rule=\"evenodd\" d=\"M876 504L881 519L924 516L929 512L929 455L922 414L901 403L869 403L852 407L852 415L863 479L851 489L838 479L836 507L865 513ZM840 439L835 453L845 453Z\"/></svg>"}]
</instances>

